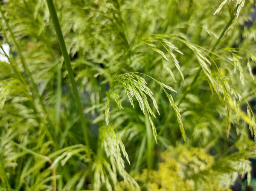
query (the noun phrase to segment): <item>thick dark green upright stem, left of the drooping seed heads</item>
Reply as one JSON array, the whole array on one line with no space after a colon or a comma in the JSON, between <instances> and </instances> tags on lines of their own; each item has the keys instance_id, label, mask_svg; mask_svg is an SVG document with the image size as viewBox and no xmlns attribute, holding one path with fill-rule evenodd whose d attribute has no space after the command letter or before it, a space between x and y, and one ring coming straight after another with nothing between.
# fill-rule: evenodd
<instances>
[{"instance_id":1,"label":"thick dark green upright stem, left of the drooping seed heads","mask_svg":"<svg viewBox=\"0 0 256 191\"><path fill-rule=\"evenodd\" d=\"M73 70L72 70L72 67L71 67L71 63L70 63L70 57L69 57L69 54L67 53L67 48L66 48L66 45L65 45L65 41L64 41L62 31L61 31L61 26L60 26L60 23L58 21L58 17L57 17L55 7L54 7L54 4L53 4L52 0L47 0L47 5L48 5L50 16L52 18L52 23L53 23L53 26L54 26L54 29L55 29L55 32L56 32L56 35L57 35L58 43L59 43L60 48L61 48L61 53L64 57L64 61L65 61L65 64L67 66L67 71L68 71L68 75L69 75L70 82L71 82L71 85L72 85L73 94L75 96L76 104L77 104L79 115L80 115L81 125L82 125L83 131L84 131L85 143L88 147L90 147L89 137L88 137L88 133L87 133L87 127L86 127L86 123L85 123L85 120L84 120L84 113L83 113L83 110L82 110L80 97L79 97L78 90L77 90L77 87L76 87L76 81L75 81L75 78L74 78L74 73L73 73Z\"/></svg>"}]
</instances>

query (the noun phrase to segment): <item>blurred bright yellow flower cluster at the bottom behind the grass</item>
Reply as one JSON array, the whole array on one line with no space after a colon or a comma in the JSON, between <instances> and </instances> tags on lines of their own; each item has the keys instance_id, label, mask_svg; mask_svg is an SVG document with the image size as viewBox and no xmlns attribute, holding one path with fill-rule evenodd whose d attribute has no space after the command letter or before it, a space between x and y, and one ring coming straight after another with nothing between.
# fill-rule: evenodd
<instances>
[{"instance_id":1,"label":"blurred bright yellow flower cluster at the bottom behind the grass","mask_svg":"<svg viewBox=\"0 0 256 191\"><path fill-rule=\"evenodd\" d=\"M135 179L142 183L140 185L141 190L225 190L219 185L218 181L212 180L207 174L204 175L205 171L211 171L214 157L208 155L202 148L187 148L184 145L180 145L172 150L164 151L161 154L161 160L158 170L149 171L148 174L148 171L144 169L141 174L137 174ZM148 180L147 185L143 185L146 180ZM119 182L118 188L120 191L137 191L136 189L125 187L124 182Z\"/></svg>"}]
</instances>

